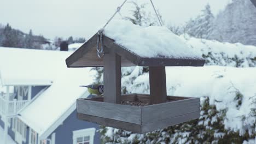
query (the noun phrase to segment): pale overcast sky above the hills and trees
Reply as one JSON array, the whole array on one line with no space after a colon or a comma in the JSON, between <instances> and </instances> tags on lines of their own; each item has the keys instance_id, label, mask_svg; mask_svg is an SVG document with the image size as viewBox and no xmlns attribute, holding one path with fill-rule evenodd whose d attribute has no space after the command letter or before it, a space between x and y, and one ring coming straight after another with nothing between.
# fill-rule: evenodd
<instances>
[{"instance_id":1,"label":"pale overcast sky above the hills and trees","mask_svg":"<svg viewBox=\"0 0 256 144\"><path fill-rule=\"evenodd\" d=\"M207 3L210 3L216 15L230 1L153 0L166 25L181 25L190 17L198 15ZM71 35L89 39L121 3L123 0L0 0L0 23L9 23L26 33L32 29L34 34L42 34L50 39L56 36L68 38ZM127 3L121 14L127 16L131 9L131 4Z\"/></svg>"}]
</instances>

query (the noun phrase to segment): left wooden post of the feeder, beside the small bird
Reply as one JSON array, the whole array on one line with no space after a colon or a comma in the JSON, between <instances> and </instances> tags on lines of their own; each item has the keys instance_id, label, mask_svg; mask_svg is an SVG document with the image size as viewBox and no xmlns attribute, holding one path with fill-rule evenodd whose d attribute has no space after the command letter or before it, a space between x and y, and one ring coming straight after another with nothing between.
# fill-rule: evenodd
<instances>
[{"instance_id":1,"label":"left wooden post of the feeder, beside the small bird","mask_svg":"<svg viewBox=\"0 0 256 144\"><path fill-rule=\"evenodd\" d=\"M104 102L121 103L121 57L117 53L105 53L104 58Z\"/></svg>"}]
</instances>

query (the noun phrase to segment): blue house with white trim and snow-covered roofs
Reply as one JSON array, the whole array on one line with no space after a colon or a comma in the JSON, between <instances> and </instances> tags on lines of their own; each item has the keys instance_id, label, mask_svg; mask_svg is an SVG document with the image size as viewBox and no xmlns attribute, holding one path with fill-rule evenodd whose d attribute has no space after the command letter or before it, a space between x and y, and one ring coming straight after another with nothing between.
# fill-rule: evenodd
<instances>
[{"instance_id":1,"label":"blue house with white trim and snow-covered roofs","mask_svg":"<svg viewBox=\"0 0 256 144\"><path fill-rule=\"evenodd\" d=\"M79 87L93 81L90 68L67 69L69 55L0 47L0 139L9 135L19 144L100 143L98 125L80 121L75 111L75 100L90 96Z\"/></svg>"}]
</instances>

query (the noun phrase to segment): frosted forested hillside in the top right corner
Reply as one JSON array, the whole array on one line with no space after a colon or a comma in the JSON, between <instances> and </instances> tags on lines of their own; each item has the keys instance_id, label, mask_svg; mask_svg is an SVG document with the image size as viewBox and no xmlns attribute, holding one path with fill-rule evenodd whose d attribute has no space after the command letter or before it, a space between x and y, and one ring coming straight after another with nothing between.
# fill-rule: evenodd
<instances>
[{"instance_id":1,"label":"frosted forested hillside in the top right corner","mask_svg":"<svg viewBox=\"0 0 256 144\"><path fill-rule=\"evenodd\" d=\"M214 21L209 39L256 45L256 8L250 0L232 0Z\"/></svg>"}]
</instances>

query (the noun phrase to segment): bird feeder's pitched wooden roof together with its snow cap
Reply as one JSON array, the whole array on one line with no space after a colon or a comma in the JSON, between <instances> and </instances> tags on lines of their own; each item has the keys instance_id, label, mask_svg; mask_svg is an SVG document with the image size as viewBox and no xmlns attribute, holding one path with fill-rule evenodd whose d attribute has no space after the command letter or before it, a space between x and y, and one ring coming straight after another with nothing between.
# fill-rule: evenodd
<instances>
[{"instance_id":1,"label":"bird feeder's pitched wooden roof together with its snow cap","mask_svg":"<svg viewBox=\"0 0 256 144\"><path fill-rule=\"evenodd\" d=\"M104 52L121 56L122 66L203 66L205 60L165 27L141 27L112 21L103 31ZM97 56L97 34L66 59L68 67L102 67Z\"/></svg>"}]
</instances>

